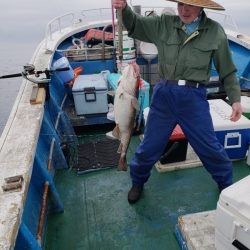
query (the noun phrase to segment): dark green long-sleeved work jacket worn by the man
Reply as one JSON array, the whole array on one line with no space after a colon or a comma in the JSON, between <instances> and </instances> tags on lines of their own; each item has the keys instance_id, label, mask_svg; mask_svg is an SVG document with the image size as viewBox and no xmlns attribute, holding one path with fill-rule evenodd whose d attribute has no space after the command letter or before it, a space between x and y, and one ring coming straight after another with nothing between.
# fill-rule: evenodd
<instances>
[{"instance_id":1,"label":"dark green long-sleeved work jacket worn by the man","mask_svg":"<svg viewBox=\"0 0 250 250\"><path fill-rule=\"evenodd\" d=\"M158 67L162 79L190 80L208 84L212 61L231 103L240 101L236 67L224 29L202 13L199 28L191 35L179 16L143 17L127 5L123 23L128 35L158 48Z\"/></svg>"}]
</instances>

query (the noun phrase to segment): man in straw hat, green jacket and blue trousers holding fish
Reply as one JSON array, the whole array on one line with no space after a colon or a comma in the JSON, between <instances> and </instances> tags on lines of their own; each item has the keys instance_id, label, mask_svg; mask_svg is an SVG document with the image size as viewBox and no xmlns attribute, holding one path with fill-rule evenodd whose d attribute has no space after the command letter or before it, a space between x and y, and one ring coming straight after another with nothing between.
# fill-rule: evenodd
<instances>
[{"instance_id":1,"label":"man in straw hat, green jacket and blue trousers holding fish","mask_svg":"<svg viewBox=\"0 0 250 250\"><path fill-rule=\"evenodd\" d=\"M177 2L178 16L142 17L131 10L126 0L113 0L113 6L122 9L129 36L157 46L162 79L153 90L144 140L130 162L131 204L140 199L151 169L177 124L219 191L232 184L232 163L216 138L206 98L214 63L232 106L230 120L240 119L240 86L226 34L203 10L224 8L211 0L169 1Z\"/></svg>"}]
</instances>

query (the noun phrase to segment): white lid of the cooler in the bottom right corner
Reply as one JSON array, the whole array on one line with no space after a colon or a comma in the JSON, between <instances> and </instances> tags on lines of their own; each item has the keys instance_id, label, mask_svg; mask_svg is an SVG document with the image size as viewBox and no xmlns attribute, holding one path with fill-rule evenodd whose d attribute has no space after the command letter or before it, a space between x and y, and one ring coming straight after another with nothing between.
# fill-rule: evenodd
<instances>
[{"instance_id":1,"label":"white lid of the cooler in the bottom right corner","mask_svg":"<svg viewBox=\"0 0 250 250\"><path fill-rule=\"evenodd\" d=\"M219 203L250 219L250 175L221 192Z\"/></svg>"}]
</instances>

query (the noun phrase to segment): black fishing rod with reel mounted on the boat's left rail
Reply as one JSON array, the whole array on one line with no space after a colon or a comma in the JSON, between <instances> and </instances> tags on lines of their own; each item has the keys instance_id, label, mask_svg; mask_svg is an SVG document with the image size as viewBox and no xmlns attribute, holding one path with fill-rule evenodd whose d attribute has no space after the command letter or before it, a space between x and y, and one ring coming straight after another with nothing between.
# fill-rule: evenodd
<instances>
[{"instance_id":1,"label":"black fishing rod with reel mounted on the boat's left rail","mask_svg":"<svg viewBox=\"0 0 250 250\"><path fill-rule=\"evenodd\" d=\"M26 64L23 66L23 71L21 73L15 73L10 75L2 75L0 79L7 79L7 78L15 78L15 77L23 77L24 79L37 84L38 88L45 88L46 90L46 100L50 97L49 92L49 83L50 83L50 76L53 72L60 72L60 71L67 71L69 67L64 68L57 68L57 69L45 69L45 70L35 70L35 66L33 64ZM46 78L39 78L41 74L45 74ZM30 77L34 75L34 77Z\"/></svg>"}]
</instances>

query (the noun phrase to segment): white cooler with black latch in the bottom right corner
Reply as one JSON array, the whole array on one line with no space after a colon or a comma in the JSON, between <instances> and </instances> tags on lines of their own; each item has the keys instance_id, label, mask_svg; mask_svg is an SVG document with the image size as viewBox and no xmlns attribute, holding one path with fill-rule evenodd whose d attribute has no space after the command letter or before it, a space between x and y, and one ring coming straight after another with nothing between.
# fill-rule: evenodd
<instances>
[{"instance_id":1,"label":"white cooler with black latch in the bottom right corner","mask_svg":"<svg viewBox=\"0 0 250 250\"><path fill-rule=\"evenodd\" d=\"M222 191L215 216L217 250L250 249L250 175Z\"/></svg>"}]
</instances>

